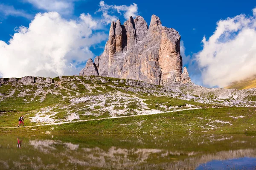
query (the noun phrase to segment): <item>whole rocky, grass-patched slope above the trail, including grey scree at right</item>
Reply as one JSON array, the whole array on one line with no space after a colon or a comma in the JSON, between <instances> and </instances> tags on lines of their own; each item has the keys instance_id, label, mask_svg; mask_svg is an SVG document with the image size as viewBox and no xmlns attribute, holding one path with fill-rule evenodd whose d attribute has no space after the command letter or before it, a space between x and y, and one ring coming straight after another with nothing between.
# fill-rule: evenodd
<instances>
[{"instance_id":1,"label":"whole rocky, grass-patched slope above the trail, including grey scree at right","mask_svg":"<svg viewBox=\"0 0 256 170\"><path fill-rule=\"evenodd\" d=\"M249 96L255 90L236 91L238 97L223 90L202 89L193 84L164 87L132 80L95 76L51 78L0 78L1 115L27 114L31 122L66 122L134 114L163 113L186 108L215 106L256 106ZM209 93L208 93L209 92ZM209 96L215 92L214 96ZM225 96L226 95L226 96ZM2 117L2 120L5 120ZM8 116L6 121L11 120ZM33 124L35 123L35 124ZM4 124L3 124L4 125Z\"/></svg>"}]
</instances>

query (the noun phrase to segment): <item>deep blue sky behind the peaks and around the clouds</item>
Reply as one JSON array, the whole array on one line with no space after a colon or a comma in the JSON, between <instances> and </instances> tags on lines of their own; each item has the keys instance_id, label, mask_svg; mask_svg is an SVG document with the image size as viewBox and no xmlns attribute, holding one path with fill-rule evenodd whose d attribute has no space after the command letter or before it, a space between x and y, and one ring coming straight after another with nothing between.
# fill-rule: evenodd
<instances>
[{"instance_id":1,"label":"deep blue sky behind the peaks and around the clouds","mask_svg":"<svg viewBox=\"0 0 256 170\"><path fill-rule=\"evenodd\" d=\"M93 28L93 26L88 26L88 28L90 28L90 31L92 31L92 34L89 35L88 37L93 38L92 35L97 33L102 34L102 37L100 37L99 40L97 40L97 43L93 42L87 46L89 48L87 52L89 51L88 54L90 53L90 57L95 57L96 55L100 55L104 50L103 47L106 41L106 36L104 36L103 34L107 35L108 29L109 29L109 24L107 23L102 24L103 22L102 12L101 11L96 12L100 8L99 7L100 0L99 1L97 0L62 0L62 1L52 0L52 2L55 2L55 5L57 4L58 7L56 7L55 5L51 5L49 1L50 0L48 0L48 2L47 0L41 0L42 3L38 4L36 0L1 0L0 1L0 23L1 23L0 24L0 30L1 30L0 40L8 44L8 41L12 38L11 36L17 33L17 29L20 26L29 27L29 23L31 23L31 20L33 20L33 18L35 17L35 14L37 14L38 12L41 12L42 14L44 14L44 12L48 12L48 11L57 11L61 15L61 18L67 21L69 21L70 19L79 20L80 14L84 13L85 15L90 14L90 17L93 20L99 21L99 23L101 23L100 26L97 25L98 27L100 27L100 29ZM63 3L63 4L60 5L60 3ZM189 74L195 83L200 85L206 85L208 87L214 87L214 86L226 85L227 84L226 82L222 84L214 83L218 81L219 82L223 81L225 77L230 77L228 82L232 80L238 80L233 78L234 76L232 76L231 73L223 74L222 76L224 77L223 79L214 78L209 80L209 77L212 76L212 72L214 72L214 69L212 70L209 70L209 69L214 67L214 65L209 65L209 63L205 62L204 59L202 58L202 55L201 56L200 55L196 56L196 55L198 54L198 52L202 50L209 49L207 48L207 43L202 44L201 41L203 40L204 36L206 37L206 40L209 40L209 37L211 37L214 34L215 30L218 27L216 25L218 21L225 20L225 21L231 22L231 20L228 20L228 17L233 18L238 15L241 16L244 14L246 18L251 17L249 18L251 22L250 25L253 25L252 23L254 23L254 19L255 19L255 16L253 15L253 9L256 7L255 0L244 0L242 2L240 0L215 0L215 1L166 0L166 1L159 1L159 2L152 1L152 0L147 0L147 1L146 0L127 0L127 1L105 0L104 3L107 4L108 6L125 5L126 7L134 5L135 3L137 5L137 11L135 12L135 14L143 16L146 22L148 23L148 25L150 23L151 15L155 14L158 17L160 17L160 20L162 21L163 26L166 26L169 28L175 28L180 33L181 40L183 41L183 45L186 48L185 55L187 57L187 62L185 63L184 66L188 67ZM122 23L125 21L125 11L121 11L120 13L118 13L117 11L108 11L108 14L111 16L114 15L115 17L118 17ZM234 21L234 23L236 23L236 21ZM230 26L231 28L232 24L230 23L228 26ZM235 39L236 35L238 35L240 31L241 32L244 31L245 28L248 28L248 27L251 28L249 24L247 26L242 25L242 22L240 27L238 30L230 31L230 33L231 32L236 33L235 37L232 37L230 39ZM254 26L251 29L255 31L255 27L256 26ZM226 32L227 30L224 30L223 34L226 34ZM23 42L23 40L20 40L20 42ZM229 40L227 40L226 42L229 42ZM210 44L210 41L208 41L208 43ZM213 44L213 45L216 45L216 44ZM87 47L83 47L83 48L87 48ZM234 47L236 46L233 46L233 48ZM214 46L214 48L217 48L217 47ZM214 53L217 51L217 54L218 54L218 51L221 51L221 50L223 49L217 49L214 51ZM0 49L0 52L1 52L1 49ZM207 51L207 55L208 54L210 54L209 50ZM223 52L220 52L220 54L223 54ZM0 57L1 57L1 54L0 54ZM223 56L220 56L220 57L223 57ZM194 61L195 58L197 58L198 60ZM81 58L75 59L75 60L79 61L77 63L84 64L84 61ZM218 62L216 63L218 64ZM209 65L209 68L208 68L208 65ZM234 65L237 65L239 67L241 66L239 65L239 63L234 63ZM221 68L226 68L226 67L224 65L224 66L221 66ZM207 74L201 75L201 71L205 71L205 73ZM244 71L246 71L245 68L244 68ZM3 74L4 71L1 71L0 69L0 73L1 72L2 72L2 76L8 75L8 74ZM79 70L77 70L77 72L79 72ZM48 71L47 73L50 74L51 71ZM58 73L62 73L62 72L60 71ZM55 73L55 74L57 75L58 73ZM70 72L64 71L63 73L67 74ZM17 77L18 76L19 75L17 75ZM43 75L43 76L47 76L47 75ZM239 79L241 79L241 77L242 76L240 76Z\"/></svg>"}]
</instances>

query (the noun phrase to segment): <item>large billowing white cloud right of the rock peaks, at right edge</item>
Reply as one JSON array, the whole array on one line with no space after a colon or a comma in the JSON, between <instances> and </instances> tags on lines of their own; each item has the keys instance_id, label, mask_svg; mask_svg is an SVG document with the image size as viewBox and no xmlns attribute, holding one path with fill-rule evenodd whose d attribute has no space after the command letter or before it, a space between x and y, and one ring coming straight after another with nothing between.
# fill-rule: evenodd
<instances>
[{"instance_id":1,"label":"large billowing white cloud right of the rock peaks, at right edge","mask_svg":"<svg viewBox=\"0 0 256 170\"><path fill-rule=\"evenodd\" d=\"M205 85L225 87L256 74L255 11L218 21L212 36L203 38L204 48L195 57Z\"/></svg>"}]
</instances>

